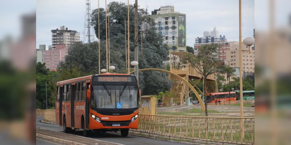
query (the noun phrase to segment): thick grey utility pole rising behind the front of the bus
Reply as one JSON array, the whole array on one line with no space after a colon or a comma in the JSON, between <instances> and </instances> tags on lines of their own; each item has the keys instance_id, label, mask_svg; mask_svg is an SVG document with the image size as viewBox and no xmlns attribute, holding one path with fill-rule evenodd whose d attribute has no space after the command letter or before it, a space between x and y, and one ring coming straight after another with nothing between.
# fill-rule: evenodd
<instances>
[{"instance_id":1,"label":"thick grey utility pole rising behind the front of the bus","mask_svg":"<svg viewBox=\"0 0 291 145\"><path fill-rule=\"evenodd\" d=\"M138 28L137 28L137 19L138 19L138 11L137 11L137 0L135 0L134 8L135 8L135 14L134 14L134 60L138 62ZM138 80L138 64L135 66L134 69L134 75L136 76Z\"/></svg>"}]
</instances>

